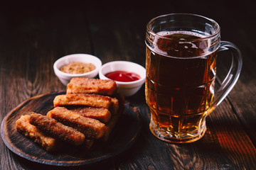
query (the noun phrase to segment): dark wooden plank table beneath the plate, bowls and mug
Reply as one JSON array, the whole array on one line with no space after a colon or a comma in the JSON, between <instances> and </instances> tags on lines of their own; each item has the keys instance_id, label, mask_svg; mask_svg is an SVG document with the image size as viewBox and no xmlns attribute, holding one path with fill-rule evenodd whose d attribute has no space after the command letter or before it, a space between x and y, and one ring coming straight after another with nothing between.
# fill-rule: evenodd
<instances>
[{"instance_id":1,"label":"dark wooden plank table beneath the plate, bowls and mug","mask_svg":"<svg viewBox=\"0 0 256 170\"><path fill-rule=\"evenodd\" d=\"M221 39L237 45L243 56L240 79L207 118L199 141L171 144L149 130L144 88L126 98L139 109L142 132L118 157L75 169L256 169L256 13L251 1L124 1L119 4L1 6L0 121L27 98L65 91L53 72L64 55L87 53L102 63L114 60L145 66L146 23L165 13L197 13L220 24ZM229 65L218 57L218 77ZM0 140L0 169L72 169L30 162Z\"/></svg>"}]
</instances>

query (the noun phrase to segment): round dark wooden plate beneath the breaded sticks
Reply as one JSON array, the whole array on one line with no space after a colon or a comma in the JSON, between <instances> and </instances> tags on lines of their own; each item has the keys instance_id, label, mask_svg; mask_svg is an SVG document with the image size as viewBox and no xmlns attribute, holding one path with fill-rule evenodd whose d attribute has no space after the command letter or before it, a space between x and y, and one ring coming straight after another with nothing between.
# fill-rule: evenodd
<instances>
[{"instance_id":1,"label":"round dark wooden plate beneath the breaded sticks","mask_svg":"<svg viewBox=\"0 0 256 170\"><path fill-rule=\"evenodd\" d=\"M73 150L73 152L46 152L41 146L16 130L16 120L21 115L30 114L31 111L46 115L53 108L53 99L60 94L65 94L65 92L42 94L28 98L6 115L1 123L1 137L12 152L41 164L79 166L114 157L131 147L137 140L142 125L139 113L125 103L124 113L119 118L107 142L95 142L95 147L92 147L88 152L79 149Z\"/></svg>"}]
</instances>

